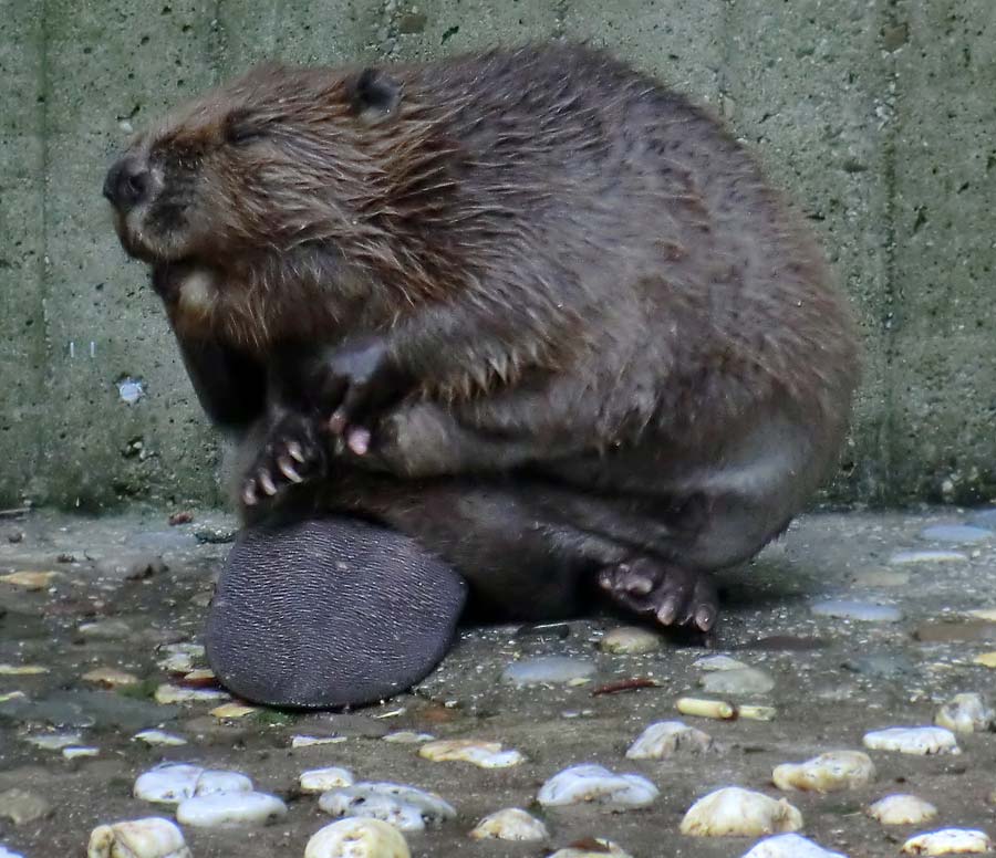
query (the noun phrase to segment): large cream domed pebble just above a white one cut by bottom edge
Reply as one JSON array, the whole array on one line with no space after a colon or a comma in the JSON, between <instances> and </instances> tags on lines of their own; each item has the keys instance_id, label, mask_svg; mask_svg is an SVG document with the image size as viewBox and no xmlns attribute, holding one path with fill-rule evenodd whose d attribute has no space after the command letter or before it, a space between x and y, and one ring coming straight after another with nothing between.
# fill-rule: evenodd
<instances>
[{"instance_id":1,"label":"large cream domed pebble just above a white one cut by bottom edge","mask_svg":"<svg viewBox=\"0 0 996 858\"><path fill-rule=\"evenodd\" d=\"M784 798L727 786L699 798L682 819L681 831L695 837L758 837L798 831L802 814Z\"/></svg>"}]
</instances>

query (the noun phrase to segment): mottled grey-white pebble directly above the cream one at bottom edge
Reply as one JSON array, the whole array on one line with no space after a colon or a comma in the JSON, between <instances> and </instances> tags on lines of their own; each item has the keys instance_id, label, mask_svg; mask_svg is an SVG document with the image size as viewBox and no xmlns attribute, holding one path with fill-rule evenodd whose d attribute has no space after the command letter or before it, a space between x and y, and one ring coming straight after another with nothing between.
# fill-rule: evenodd
<instances>
[{"instance_id":1,"label":"mottled grey-white pebble directly above the cream one at bottom edge","mask_svg":"<svg viewBox=\"0 0 996 858\"><path fill-rule=\"evenodd\" d=\"M426 823L453 819L456 810L434 793L392 783L359 783L330 789L319 807L332 816L390 823L402 831L422 831Z\"/></svg>"}]
</instances>

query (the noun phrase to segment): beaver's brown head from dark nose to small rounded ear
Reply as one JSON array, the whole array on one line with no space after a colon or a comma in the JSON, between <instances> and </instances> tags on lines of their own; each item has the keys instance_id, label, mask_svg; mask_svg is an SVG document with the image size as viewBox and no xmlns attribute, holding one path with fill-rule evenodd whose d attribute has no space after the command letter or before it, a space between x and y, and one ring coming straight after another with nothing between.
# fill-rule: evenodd
<instances>
[{"instance_id":1,"label":"beaver's brown head from dark nose to small rounded ear","mask_svg":"<svg viewBox=\"0 0 996 858\"><path fill-rule=\"evenodd\" d=\"M139 134L104 196L128 253L210 261L284 252L352 226L376 195L377 122L401 86L376 70L267 65Z\"/></svg>"}]
</instances>

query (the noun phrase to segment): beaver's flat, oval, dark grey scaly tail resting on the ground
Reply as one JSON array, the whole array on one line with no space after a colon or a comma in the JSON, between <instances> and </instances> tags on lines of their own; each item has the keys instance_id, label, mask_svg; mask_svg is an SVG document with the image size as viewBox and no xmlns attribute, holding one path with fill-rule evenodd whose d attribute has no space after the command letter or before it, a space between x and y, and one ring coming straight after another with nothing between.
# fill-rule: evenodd
<instances>
[{"instance_id":1,"label":"beaver's flat, oval, dark grey scaly tail resting on the ground","mask_svg":"<svg viewBox=\"0 0 996 858\"><path fill-rule=\"evenodd\" d=\"M467 585L413 540L324 517L246 529L208 615L211 669L255 703L372 703L446 655Z\"/></svg>"}]
</instances>

